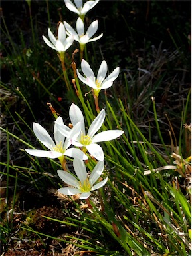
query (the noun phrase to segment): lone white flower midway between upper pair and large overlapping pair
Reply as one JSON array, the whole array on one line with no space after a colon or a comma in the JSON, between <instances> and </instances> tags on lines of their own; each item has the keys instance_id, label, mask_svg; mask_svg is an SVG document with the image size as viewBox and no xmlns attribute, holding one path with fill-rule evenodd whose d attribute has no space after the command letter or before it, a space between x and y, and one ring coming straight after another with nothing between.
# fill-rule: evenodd
<instances>
[{"instance_id":1,"label":"lone white flower midway between upper pair and large overlapping pair","mask_svg":"<svg viewBox=\"0 0 192 256\"><path fill-rule=\"evenodd\" d=\"M83 77L77 69L77 75L80 81L92 87L94 89L94 94L98 97L100 90L107 89L112 86L114 80L118 77L120 73L120 67L116 67L108 77L106 77L106 73L108 70L108 65L106 61L102 61L100 68L98 70L97 77L94 75L94 72L90 68L90 65L87 61L82 59L81 61L82 72L85 77ZM106 77L106 78L105 78Z\"/></svg>"}]
</instances>

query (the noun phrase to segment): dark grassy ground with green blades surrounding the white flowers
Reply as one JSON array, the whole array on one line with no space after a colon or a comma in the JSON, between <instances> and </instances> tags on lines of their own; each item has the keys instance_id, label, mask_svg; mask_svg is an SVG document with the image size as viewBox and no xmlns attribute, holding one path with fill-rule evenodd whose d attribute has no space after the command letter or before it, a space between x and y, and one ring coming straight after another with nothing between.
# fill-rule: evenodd
<instances>
[{"instance_id":1,"label":"dark grassy ground with green blades surrounding the white flowers","mask_svg":"<svg viewBox=\"0 0 192 256\"><path fill-rule=\"evenodd\" d=\"M63 1L1 1L2 255L191 255L191 1L101 0L86 23L95 19L104 37L85 57L95 73L102 59L109 72L120 66L100 109L125 134L102 144L110 179L93 215L58 195L56 161L24 151L41 146L33 121L52 133L47 103L66 123L71 102L81 107L42 39L76 15Z\"/></svg>"}]
</instances>

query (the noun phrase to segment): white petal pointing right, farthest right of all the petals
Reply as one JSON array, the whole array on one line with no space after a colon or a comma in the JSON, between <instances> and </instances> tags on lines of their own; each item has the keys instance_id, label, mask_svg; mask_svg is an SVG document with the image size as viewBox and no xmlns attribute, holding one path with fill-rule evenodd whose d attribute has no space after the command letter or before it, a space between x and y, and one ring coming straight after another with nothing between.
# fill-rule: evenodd
<instances>
[{"instance_id":1,"label":"white petal pointing right, farthest right of all the petals","mask_svg":"<svg viewBox=\"0 0 192 256\"><path fill-rule=\"evenodd\" d=\"M123 133L124 131L120 130L102 131L101 133L98 133L92 137L92 143L100 141L111 141L112 139L120 137Z\"/></svg>"}]
</instances>

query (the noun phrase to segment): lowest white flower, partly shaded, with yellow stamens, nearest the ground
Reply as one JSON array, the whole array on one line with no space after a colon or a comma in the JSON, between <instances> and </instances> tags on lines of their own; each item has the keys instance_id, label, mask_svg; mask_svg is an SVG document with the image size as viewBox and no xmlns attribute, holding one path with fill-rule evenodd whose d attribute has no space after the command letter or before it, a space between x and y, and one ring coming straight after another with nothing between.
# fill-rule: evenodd
<instances>
[{"instance_id":1,"label":"lowest white flower, partly shaded, with yellow stamens, nearest the ground","mask_svg":"<svg viewBox=\"0 0 192 256\"><path fill-rule=\"evenodd\" d=\"M66 171L57 171L60 179L62 179L62 181L64 181L68 185L72 186L62 187L58 189L58 192L64 195L81 194L80 199L87 199L90 196L90 191L100 189L100 187L103 187L108 181L108 177L106 177L106 179L94 185L94 183L100 178L103 173L104 161L99 161L96 164L93 171L90 173L89 178L86 172L86 166L84 165L84 161L74 158L73 166L78 179L74 177L74 175Z\"/></svg>"}]
</instances>

